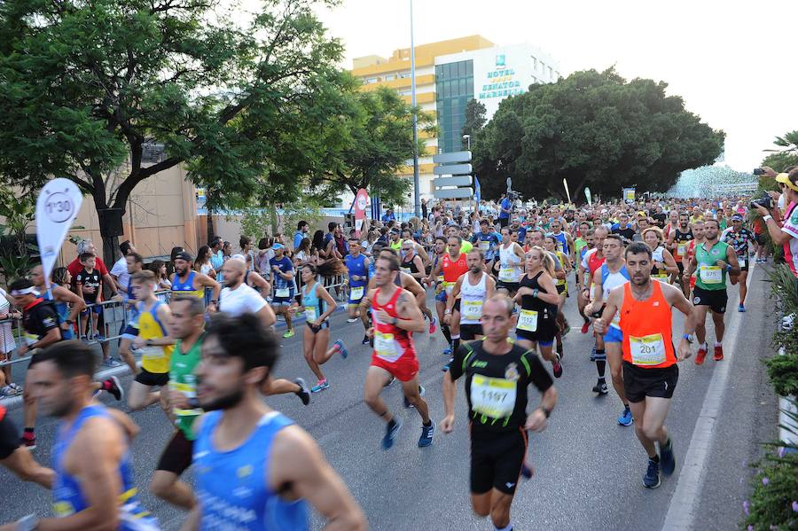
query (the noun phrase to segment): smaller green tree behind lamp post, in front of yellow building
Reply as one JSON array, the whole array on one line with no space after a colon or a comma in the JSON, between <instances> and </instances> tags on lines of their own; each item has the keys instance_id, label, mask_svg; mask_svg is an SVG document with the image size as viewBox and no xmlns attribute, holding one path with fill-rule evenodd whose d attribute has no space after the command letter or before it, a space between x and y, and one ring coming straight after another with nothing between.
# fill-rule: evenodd
<instances>
[{"instance_id":1,"label":"smaller green tree behind lamp post, in front of yellow building","mask_svg":"<svg viewBox=\"0 0 798 531\"><path fill-rule=\"evenodd\" d=\"M344 93L348 113L340 117L349 141L340 145L311 184L331 197L344 188L356 194L365 188L388 205L401 205L411 189L409 179L396 176L413 157L413 108L395 90L352 90ZM419 128L432 131L432 118L417 109ZM419 152L424 141L419 140Z\"/></svg>"}]
</instances>

